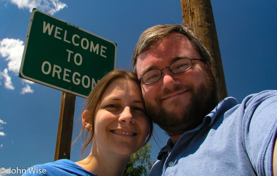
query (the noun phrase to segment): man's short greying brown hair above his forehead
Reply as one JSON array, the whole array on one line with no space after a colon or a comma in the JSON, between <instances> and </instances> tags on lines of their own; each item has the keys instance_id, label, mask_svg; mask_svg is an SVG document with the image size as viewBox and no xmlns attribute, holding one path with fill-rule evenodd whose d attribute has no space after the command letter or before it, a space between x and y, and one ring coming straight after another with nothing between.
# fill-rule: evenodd
<instances>
[{"instance_id":1,"label":"man's short greying brown hair above his forehead","mask_svg":"<svg viewBox=\"0 0 277 176\"><path fill-rule=\"evenodd\" d=\"M136 63L137 63L137 57L139 54L143 53L145 50L150 49L151 47L157 47L159 46L153 46L153 44L159 39L159 43L162 42L162 39L168 35L172 34L174 32L183 34L186 36L189 41L191 42L192 46L199 52L201 56L201 60L204 63L211 62L211 55L207 51L206 47L201 42L200 38L198 37L197 33L194 32L190 27L187 26L187 24L175 24L175 25L169 25L169 24L159 24L157 26L150 27L146 29L138 39L138 43L136 44L136 47L134 49L133 53L133 70L134 73L136 73Z\"/></svg>"}]
</instances>

